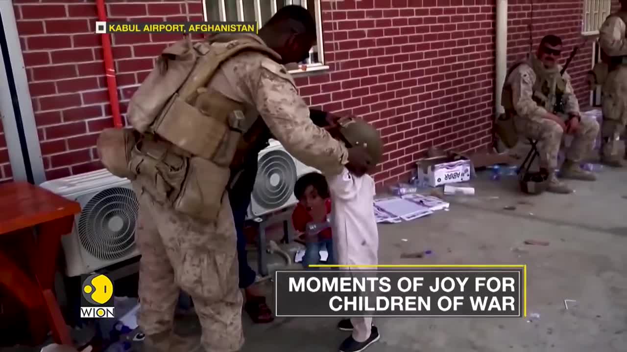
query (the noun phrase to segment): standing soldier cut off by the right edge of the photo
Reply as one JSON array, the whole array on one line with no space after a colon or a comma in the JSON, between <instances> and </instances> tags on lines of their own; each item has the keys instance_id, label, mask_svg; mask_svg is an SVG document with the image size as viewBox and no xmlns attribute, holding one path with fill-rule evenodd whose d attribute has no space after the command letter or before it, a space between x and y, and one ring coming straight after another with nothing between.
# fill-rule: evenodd
<instances>
[{"instance_id":1,"label":"standing soldier cut off by the right edge of the photo","mask_svg":"<svg viewBox=\"0 0 627 352\"><path fill-rule=\"evenodd\" d=\"M608 16L599 30L599 44L608 54L608 75L603 84L603 148L601 158L613 167L622 167L618 141L627 124L627 0ZM626 153L627 157L627 153Z\"/></svg>"}]
</instances>

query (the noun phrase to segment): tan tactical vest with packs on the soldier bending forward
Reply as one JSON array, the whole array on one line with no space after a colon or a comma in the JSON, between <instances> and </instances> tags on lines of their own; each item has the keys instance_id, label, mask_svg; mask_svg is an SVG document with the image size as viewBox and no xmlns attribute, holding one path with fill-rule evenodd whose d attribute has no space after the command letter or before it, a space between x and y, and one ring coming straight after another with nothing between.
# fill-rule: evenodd
<instances>
[{"instance_id":1,"label":"tan tactical vest with packs on the soldier bending forward","mask_svg":"<svg viewBox=\"0 0 627 352\"><path fill-rule=\"evenodd\" d=\"M244 51L280 60L267 46L238 34L211 44L182 39L164 49L129 102L132 129L101 133L103 165L161 204L216 220L234 158L241 158L265 127L255 123L241 138L246 107L207 88L220 65Z\"/></svg>"}]
</instances>

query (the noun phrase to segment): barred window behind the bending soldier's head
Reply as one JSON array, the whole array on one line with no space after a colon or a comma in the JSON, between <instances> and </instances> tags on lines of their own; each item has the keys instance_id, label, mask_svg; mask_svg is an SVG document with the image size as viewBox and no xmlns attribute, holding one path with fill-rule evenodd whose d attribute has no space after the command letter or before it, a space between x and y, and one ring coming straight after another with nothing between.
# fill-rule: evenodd
<instances>
[{"instance_id":1,"label":"barred window behind the bending soldier's head","mask_svg":"<svg viewBox=\"0 0 627 352\"><path fill-rule=\"evenodd\" d=\"M329 66L324 63L320 0L204 0L203 16L205 21L256 21L261 27L273 14L277 13L277 9L292 4L308 9L314 16L318 42L309 52L307 60L298 65L288 65L290 73L329 69Z\"/></svg>"}]
</instances>

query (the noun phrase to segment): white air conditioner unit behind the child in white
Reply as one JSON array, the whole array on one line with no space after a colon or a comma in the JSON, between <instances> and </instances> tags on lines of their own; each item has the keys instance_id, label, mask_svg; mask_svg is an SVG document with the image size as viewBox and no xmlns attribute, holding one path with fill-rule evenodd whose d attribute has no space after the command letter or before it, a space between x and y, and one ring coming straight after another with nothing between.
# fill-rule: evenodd
<instances>
[{"instance_id":1,"label":"white air conditioner unit behind the child in white","mask_svg":"<svg viewBox=\"0 0 627 352\"><path fill-rule=\"evenodd\" d=\"M277 140L259 153L257 177L250 197L248 219L255 219L298 202L294 184L305 173L320 172L292 157Z\"/></svg>"}]
</instances>

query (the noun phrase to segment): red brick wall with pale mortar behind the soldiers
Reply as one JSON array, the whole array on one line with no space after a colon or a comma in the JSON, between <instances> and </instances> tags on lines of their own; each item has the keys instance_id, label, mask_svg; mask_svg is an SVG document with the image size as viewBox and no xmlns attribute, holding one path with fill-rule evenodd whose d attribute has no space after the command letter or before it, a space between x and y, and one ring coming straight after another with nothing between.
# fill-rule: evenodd
<instances>
[{"instance_id":1,"label":"red brick wall with pale mortar behind the soldiers","mask_svg":"<svg viewBox=\"0 0 627 352\"><path fill-rule=\"evenodd\" d=\"M201 14L201 3L191 5ZM536 1L536 42L545 31L569 46L580 32L581 2ZM93 1L14 0L46 177L100 167L95 138L112 126ZM180 19L184 1L108 1L113 19ZM529 0L510 0L510 61L528 46ZM406 177L431 146L466 151L492 140L494 0L322 0L330 73L297 78L312 106L352 111L386 142L379 183ZM559 6L566 6L558 7ZM576 30L575 30L576 29ZM179 36L117 34L113 57L122 113L152 58ZM567 49L568 50L568 49ZM586 52L586 50L588 52ZM572 64L576 88L589 48ZM580 93L583 97L586 93ZM587 96L587 95L586 95ZM2 159L0 144L0 163Z\"/></svg>"}]
</instances>

